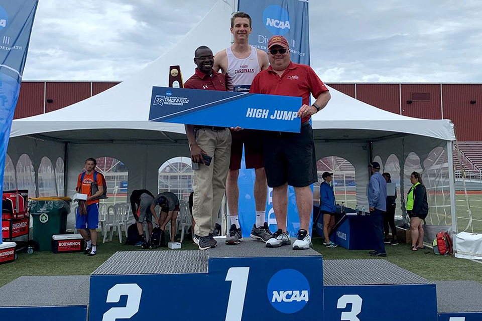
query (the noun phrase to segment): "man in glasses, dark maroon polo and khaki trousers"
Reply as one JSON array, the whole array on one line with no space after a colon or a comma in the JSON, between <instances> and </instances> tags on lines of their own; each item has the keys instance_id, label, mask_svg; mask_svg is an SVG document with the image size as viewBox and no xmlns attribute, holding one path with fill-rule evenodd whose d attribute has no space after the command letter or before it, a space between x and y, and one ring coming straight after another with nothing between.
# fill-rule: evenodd
<instances>
[{"instance_id":1,"label":"man in glasses, dark maroon polo and khaki trousers","mask_svg":"<svg viewBox=\"0 0 482 321\"><path fill-rule=\"evenodd\" d=\"M214 57L211 49L206 46L197 48L194 52L194 63L197 65L196 72L184 83L184 88L226 91L224 75L212 70ZM199 164L192 181L192 216L196 222L193 239L200 250L206 250L216 246L212 232L226 189L231 133L225 127L185 127L191 149L191 161ZM209 166L204 165L203 154L212 157Z\"/></svg>"}]
</instances>

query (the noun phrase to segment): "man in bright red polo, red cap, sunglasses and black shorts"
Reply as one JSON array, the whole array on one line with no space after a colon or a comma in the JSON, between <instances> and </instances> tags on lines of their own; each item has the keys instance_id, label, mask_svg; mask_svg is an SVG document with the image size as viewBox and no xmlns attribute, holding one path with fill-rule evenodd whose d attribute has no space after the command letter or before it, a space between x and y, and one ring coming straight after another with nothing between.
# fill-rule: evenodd
<instances>
[{"instance_id":1,"label":"man in bright red polo, red cap, sunglasses and black shorts","mask_svg":"<svg viewBox=\"0 0 482 321\"><path fill-rule=\"evenodd\" d=\"M273 36L268 42L270 67L256 75L250 92L303 98L298 110L301 118L300 133L268 132L265 139L265 170L268 186L273 188L273 209L278 231L266 242L266 247L291 244L286 232L288 185L295 189L296 205L300 216L298 238L293 249L309 249L308 234L313 193L310 185L318 180L316 170L311 115L326 106L331 96L313 69L307 65L291 62L290 46L283 36ZM309 106L310 95L316 101Z\"/></svg>"}]
</instances>

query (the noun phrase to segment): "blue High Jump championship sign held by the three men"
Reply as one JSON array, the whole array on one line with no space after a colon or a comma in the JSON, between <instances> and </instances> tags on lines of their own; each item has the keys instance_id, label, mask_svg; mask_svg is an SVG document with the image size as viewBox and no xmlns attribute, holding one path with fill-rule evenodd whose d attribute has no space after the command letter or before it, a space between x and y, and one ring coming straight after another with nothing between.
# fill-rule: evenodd
<instances>
[{"instance_id":1,"label":"blue High Jump championship sign held by the three men","mask_svg":"<svg viewBox=\"0 0 482 321\"><path fill-rule=\"evenodd\" d=\"M301 97L152 87L150 121L300 132Z\"/></svg>"}]
</instances>

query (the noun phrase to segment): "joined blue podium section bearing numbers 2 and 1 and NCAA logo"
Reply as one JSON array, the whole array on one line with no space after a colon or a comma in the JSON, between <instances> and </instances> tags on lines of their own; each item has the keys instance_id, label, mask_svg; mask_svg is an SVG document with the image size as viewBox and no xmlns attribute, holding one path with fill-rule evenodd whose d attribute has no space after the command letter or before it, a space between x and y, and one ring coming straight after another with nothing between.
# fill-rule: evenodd
<instances>
[{"instance_id":1,"label":"joined blue podium section bearing numbers 2 and 1 and NCAA logo","mask_svg":"<svg viewBox=\"0 0 482 321\"><path fill-rule=\"evenodd\" d=\"M259 241L117 252L90 276L89 319L323 320L322 258Z\"/></svg>"}]
</instances>

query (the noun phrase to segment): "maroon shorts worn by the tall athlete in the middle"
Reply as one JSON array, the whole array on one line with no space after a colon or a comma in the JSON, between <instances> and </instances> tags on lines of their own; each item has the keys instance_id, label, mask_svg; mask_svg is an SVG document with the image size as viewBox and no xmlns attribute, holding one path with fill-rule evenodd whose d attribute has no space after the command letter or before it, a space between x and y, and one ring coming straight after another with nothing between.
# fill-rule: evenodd
<instances>
[{"instance_id":1,"label":"maroon shorts worn by the tall athlete in the middle","mask_svg":"<svg viewBox=\"0 0 482 321\"><path fill-rule=\"evenodd\" d=\"M260 169L265 167L263 156L263 136L264 132L262 130L231 130L231 160L229 162L229 169L239 170L241 168L243 144L245 144L246 168Z\"/></svg>"}]
</instances>

